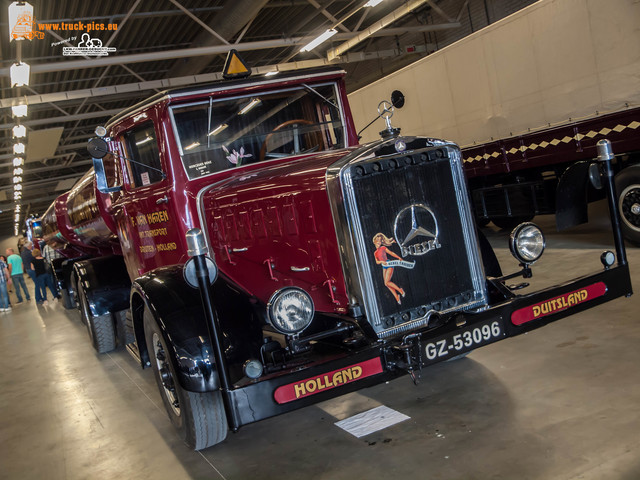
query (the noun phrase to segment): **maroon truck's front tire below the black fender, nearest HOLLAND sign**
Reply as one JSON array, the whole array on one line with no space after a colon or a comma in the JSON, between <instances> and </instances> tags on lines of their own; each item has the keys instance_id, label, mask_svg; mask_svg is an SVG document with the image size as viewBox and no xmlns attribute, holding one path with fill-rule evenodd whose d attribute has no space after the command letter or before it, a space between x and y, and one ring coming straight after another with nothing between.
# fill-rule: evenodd
<instances>
[{"instance_id":1,"label":"maroon truck's front tire below the black fender, nearest HOLLAND sign","mask_svg":"<svg viewBox=\"0 0 640 480\"><path fill-rule=\"evenodd\" d=\"M182 440L194 450L222 442L228 426L220 391L198 393L182 388L164 336L146 307L144 335L162 403Z\"/></svg>"}]
</instances>

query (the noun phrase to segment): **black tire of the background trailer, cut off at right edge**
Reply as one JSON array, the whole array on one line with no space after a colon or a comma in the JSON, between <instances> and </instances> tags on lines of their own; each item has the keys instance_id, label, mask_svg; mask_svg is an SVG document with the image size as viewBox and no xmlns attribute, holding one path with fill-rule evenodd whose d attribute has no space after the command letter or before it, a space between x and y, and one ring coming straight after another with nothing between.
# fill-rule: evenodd
<instances>
[{"instance_id":1,"label":"black tire of the background trailer, cut off at right edge","mask_svg":"<svg viewBox=\"0 0 640 480\"><path fill-rule=\"evenodd\" d=\"M640 167L621 171L615 184L624 238L640 246Z\"/></svg>"}]
</instances>

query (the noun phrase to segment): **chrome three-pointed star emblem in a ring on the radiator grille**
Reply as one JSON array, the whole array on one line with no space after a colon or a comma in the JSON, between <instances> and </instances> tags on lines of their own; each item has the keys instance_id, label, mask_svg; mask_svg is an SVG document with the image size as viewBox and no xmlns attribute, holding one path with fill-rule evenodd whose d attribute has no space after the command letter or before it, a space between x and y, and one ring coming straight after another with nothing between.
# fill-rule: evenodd
<instances>
[{"instance_id":1,"label":"chrome three-pointed star emblem in a ring on the radiator grille","mask_svg":"<svg viewBox=\"0 0 640 480\"><path fill-rule=\"evenodd\" d=\"M398 239L403 257L424 255L442 246L438 242L436 216L429 207L421 203L400 210L393 224L393 233Z\"/></svg>"}]
</instances>

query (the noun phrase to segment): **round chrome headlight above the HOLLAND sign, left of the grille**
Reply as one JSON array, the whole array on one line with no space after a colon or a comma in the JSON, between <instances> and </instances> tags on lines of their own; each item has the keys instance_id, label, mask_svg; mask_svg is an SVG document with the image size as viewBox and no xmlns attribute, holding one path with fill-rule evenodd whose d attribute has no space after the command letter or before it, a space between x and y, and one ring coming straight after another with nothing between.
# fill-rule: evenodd
<instances>
[{"instance_id":1,"label":"round chrome headlight above the HOLLAND sign, left of the grille","mask_svg":"<svg viewBox=\"0 0 640 480\"><path fill-rule=\"evenodd\" d=\"M313 300L299 288L283 288L273 294L267 305L269 323L280 333L300 333L313 320Z\"/></svg>"}]
</instances>

